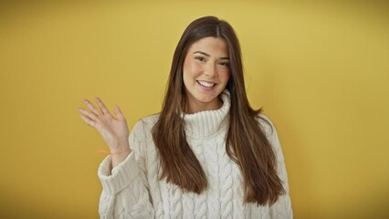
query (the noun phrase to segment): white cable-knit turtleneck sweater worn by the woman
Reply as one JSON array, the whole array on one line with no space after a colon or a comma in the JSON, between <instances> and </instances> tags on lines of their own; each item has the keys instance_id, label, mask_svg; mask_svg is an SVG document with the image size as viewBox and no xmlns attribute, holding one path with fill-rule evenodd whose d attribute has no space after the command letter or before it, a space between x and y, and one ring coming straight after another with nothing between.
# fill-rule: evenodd
<instances>
[{"instance_id":1,"label":"white cable-knit turtleneck sweater worn by the woman","mask_svg":"<svg viewBox=\"0 0 389 219\"><path fill-rule=\"evenodd\" d=\"M276 151L277 170L286 194L271 206L243 203L242 175L226 154L228 91L222 99L219 110L184 117L186 141L205 171L208 182L205 192L183 193L178 186L158 180L160 162L151 130L159 115L149 116L133 127L129 138L132 151L125 161L111 174L110 155L100 164L100 218L292 218L288 175L277 131L263 120L259 123ZM265 115L260 116L268 120Z\"/></svg>"}]
</instances>

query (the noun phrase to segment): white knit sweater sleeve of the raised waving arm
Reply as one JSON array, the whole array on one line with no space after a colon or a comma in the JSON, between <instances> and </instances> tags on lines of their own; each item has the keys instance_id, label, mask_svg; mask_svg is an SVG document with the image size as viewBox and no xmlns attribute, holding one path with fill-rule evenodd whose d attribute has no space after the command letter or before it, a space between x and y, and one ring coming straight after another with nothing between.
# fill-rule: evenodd
<instances>
[{"instance_id":1,"label":"white knit sweater sleeve of the raised waving arm","mask_svg":"<svg viewBox=\"0 0 389 219\"><path fill-rule=\"evenodd\" d=\"M154 210L146 174L146 135L142 120L129 137L131 153L110 173L111 155L100 164L98 175L102 184L100 218L153 218Z\"/></svg>"}]
</instances>

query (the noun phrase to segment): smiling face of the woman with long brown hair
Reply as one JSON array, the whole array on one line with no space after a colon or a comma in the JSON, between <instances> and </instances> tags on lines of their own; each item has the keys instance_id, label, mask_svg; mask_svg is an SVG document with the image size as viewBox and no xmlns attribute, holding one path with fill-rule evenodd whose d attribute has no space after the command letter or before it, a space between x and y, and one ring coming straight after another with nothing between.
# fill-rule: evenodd
<instances>
[{"instance_id":1,"label":"smiling face of the woman with long brown hair","mask_svg":"<svg viewBox=\"0 0 389 219\"><path fill-rule=\"evenodd\" d=\"M218 96L230 75L226 42L213 36L196 41L189 47L183 71L187 112L219 109L223 103Z\"/></svg>"}]
</instances>

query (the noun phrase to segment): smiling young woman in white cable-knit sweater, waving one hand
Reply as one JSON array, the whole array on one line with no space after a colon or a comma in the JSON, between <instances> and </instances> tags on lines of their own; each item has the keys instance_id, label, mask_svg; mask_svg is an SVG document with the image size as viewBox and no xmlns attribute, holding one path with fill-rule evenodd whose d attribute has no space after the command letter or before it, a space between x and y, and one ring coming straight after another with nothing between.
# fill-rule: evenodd
<instances>
[{"instance_id":1,"label":"smiling young woman in white cable-knit sweater, waving one hand","mask_svg":"<svg viewBox=\"0 0 389 219\"><path fill-rule=\"evenodd\" d=\"M161 113L131 134L84 99L80 117L110 149L101 162L101 218L292 218L277 131L247 100L237 36L214 16L186 27Z\"/></svg>"}]
</instances>

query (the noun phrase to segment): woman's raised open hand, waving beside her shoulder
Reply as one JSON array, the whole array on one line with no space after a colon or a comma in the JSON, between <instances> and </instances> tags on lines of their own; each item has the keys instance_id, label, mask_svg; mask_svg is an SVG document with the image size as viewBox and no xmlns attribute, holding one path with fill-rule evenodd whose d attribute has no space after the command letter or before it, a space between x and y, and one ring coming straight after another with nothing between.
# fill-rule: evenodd
<instances>
[{"instance_id":1,"label":"woman's raised open hand, waving beside her shoulder","mask_svg":"<svg viewBox=\"0 0 389 219\"><path fill-rule=\"evenodd\" d=\"M114 109L114 118L104 103L99 98L95 98L100 110L96 108L88 99L83 99L83 102L88 106L89 110L81 107L78 108L79 117L84 120L89 126L100 132L102 139L110 148L110 152L119 152L129 149L129 130L127 121L116 106Z\"/></svg>"}]
</instances>

